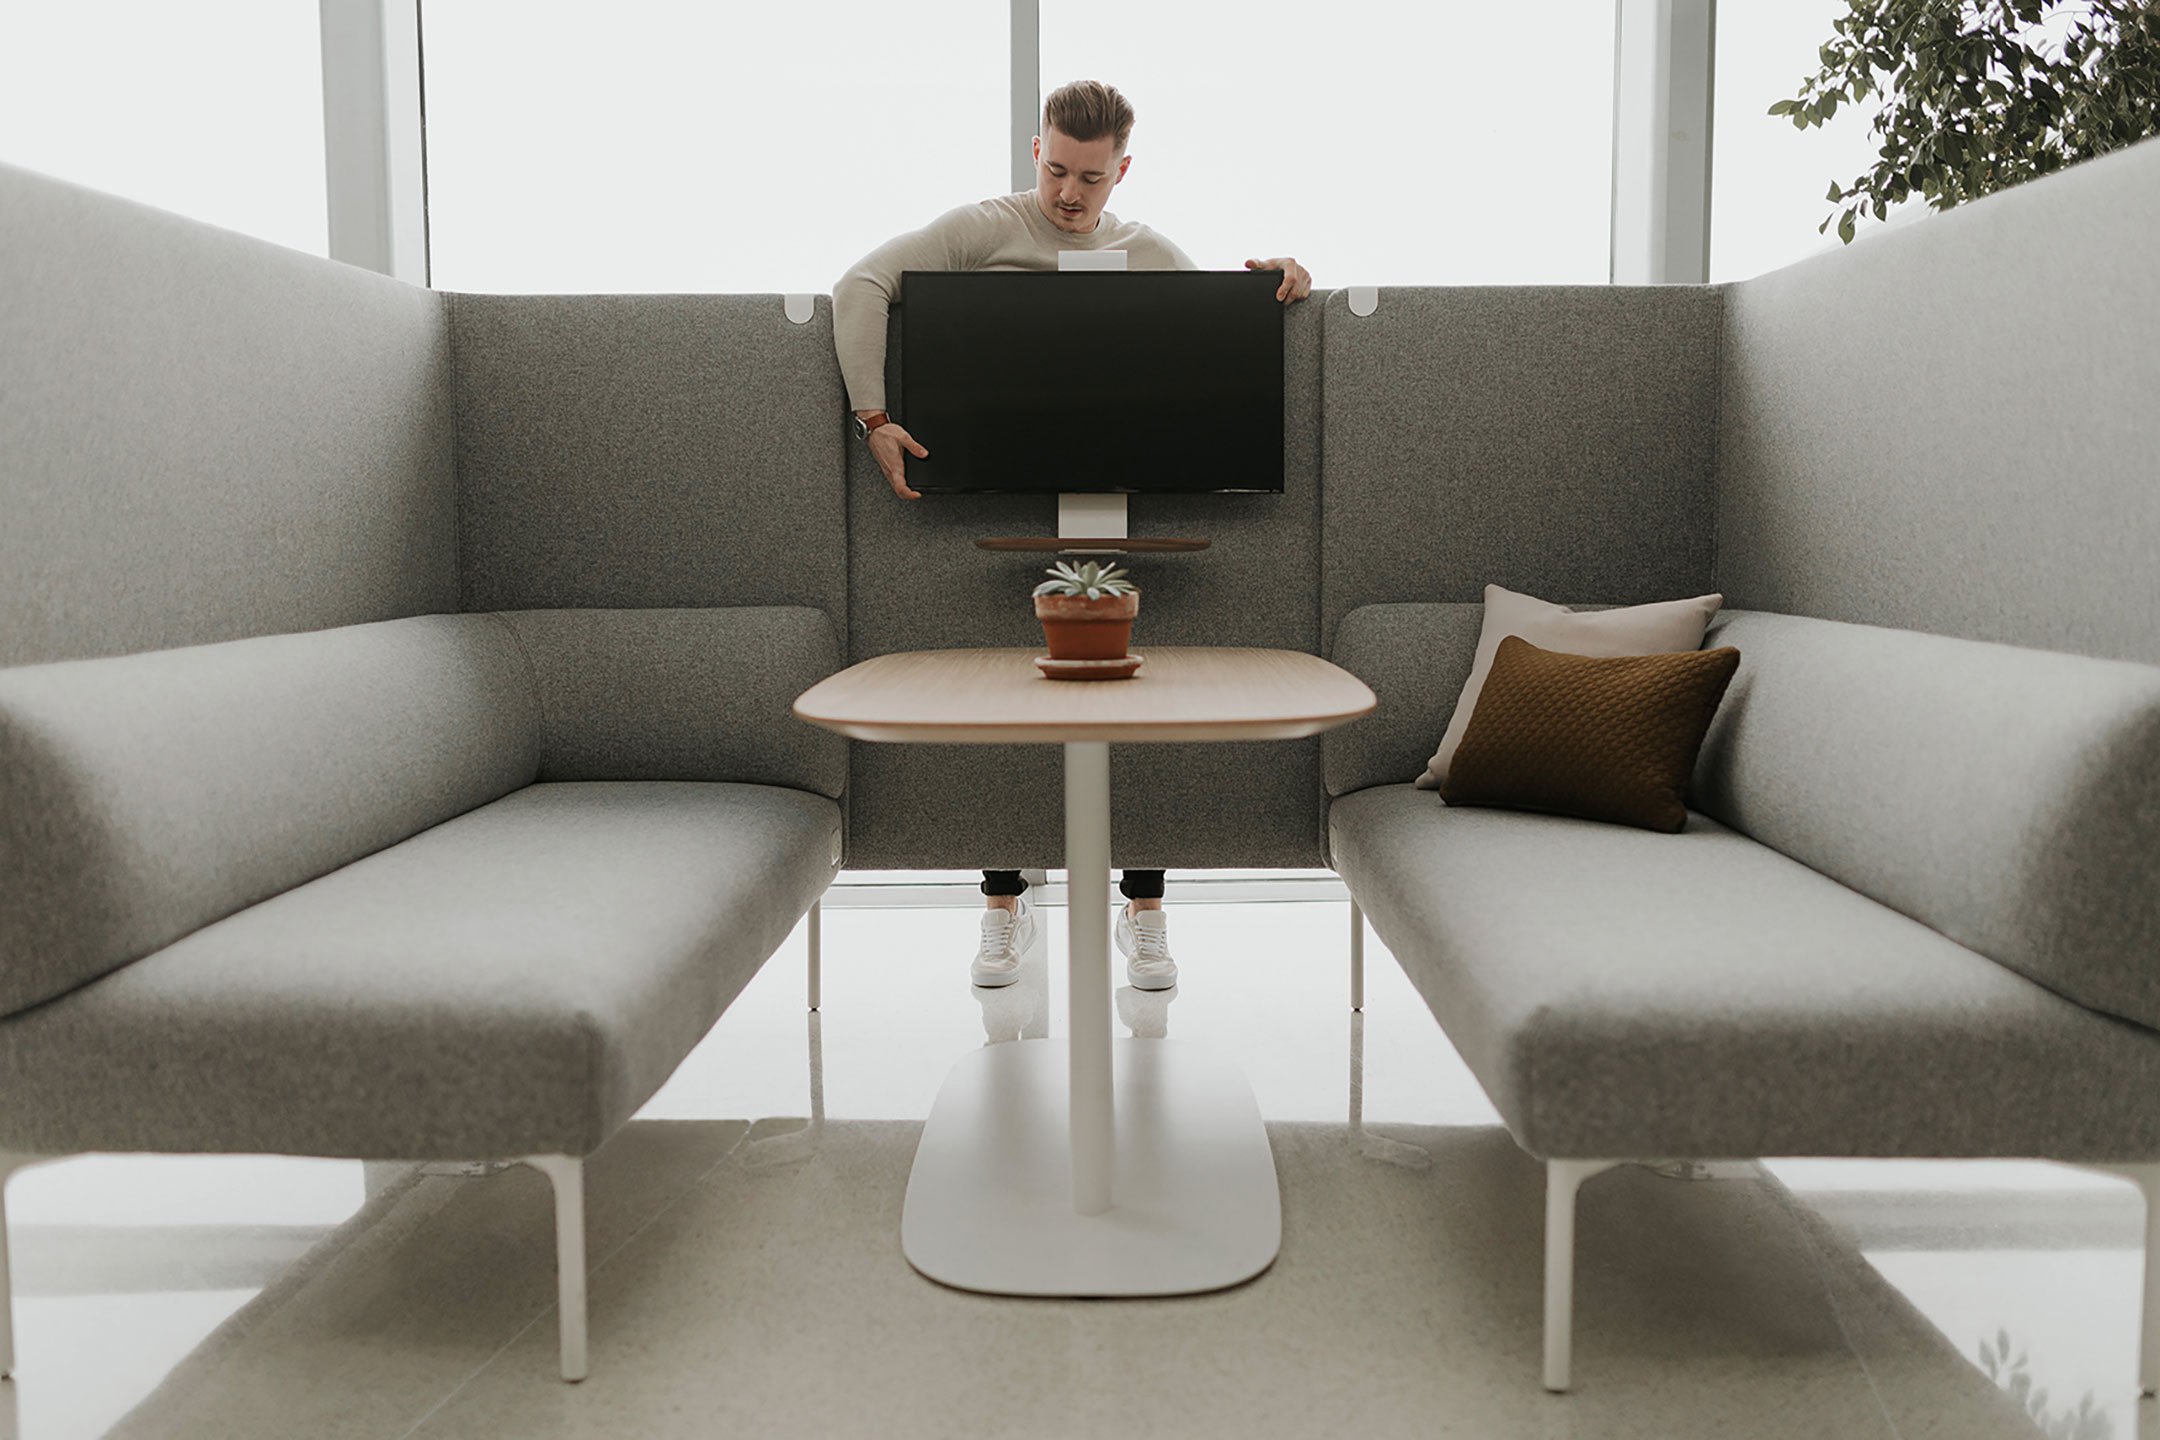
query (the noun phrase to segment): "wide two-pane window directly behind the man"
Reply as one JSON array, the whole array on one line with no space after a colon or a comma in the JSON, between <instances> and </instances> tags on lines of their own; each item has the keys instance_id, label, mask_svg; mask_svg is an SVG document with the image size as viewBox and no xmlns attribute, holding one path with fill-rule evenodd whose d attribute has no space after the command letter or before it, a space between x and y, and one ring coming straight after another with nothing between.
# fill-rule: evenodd
<instances>
[{"instance_id":1,"label":"wide two-pane window directly behind the man","mask_svg":"<svg viewBox=\"0 0 2160 1440\"><path fill-rule=\"evenodd\" d=\"M426 0L434 283L821 291L1011 188L1007 0ZM1041 89L1140 114L1110 209L1320 285L1601 283L1611 0L1041 4Z\"/></svg>"}]
</instances>

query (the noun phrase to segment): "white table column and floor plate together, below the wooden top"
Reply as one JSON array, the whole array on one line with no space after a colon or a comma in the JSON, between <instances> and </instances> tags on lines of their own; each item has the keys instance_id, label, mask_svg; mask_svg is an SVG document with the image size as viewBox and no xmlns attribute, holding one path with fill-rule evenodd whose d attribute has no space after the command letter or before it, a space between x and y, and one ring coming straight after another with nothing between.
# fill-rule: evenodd
<instances>
[{"instance_id":1,"label":"white table column and floor plate together, below the wooden top","mask_svg":"<svg viewBox=\"0 0 2160 1440\"><path fill-rule=\"evenodd\" d=\"M1283 1241L1274 1151L1236 1067L1110 1041L1110 747L1065 745L1071 1041L1017 1041L946 1075L901 1250L998 1295L1190 1295L1251 1280Z\"/></svg>"}]
</instances>

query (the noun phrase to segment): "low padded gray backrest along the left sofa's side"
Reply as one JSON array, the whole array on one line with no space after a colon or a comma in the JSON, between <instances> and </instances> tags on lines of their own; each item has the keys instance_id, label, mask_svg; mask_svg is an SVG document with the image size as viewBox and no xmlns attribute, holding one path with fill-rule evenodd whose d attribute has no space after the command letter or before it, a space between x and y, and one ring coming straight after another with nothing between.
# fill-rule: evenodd
<instances>
[{"instance_id":1,"label":"low padded gray backrest along the left sofa's side","mask_svg":"<svg viewBox=\"0 0 2160 1440\"><path fill-rule=\"evenodd\" d=\"M0 1015L534 779L495 615L0 669Z\"/></svg>"}]
</instances>

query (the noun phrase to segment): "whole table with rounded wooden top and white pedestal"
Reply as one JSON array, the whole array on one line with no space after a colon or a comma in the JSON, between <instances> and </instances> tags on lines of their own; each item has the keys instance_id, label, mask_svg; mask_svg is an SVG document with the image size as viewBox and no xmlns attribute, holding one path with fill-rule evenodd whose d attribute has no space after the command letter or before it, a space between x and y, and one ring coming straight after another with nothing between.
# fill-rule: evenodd
<instances>
[{"instance_id":1,"label":"whole table with rounded wooden top and white pedestal","mask_svg":"<svg viewBox=\"0 0 2160 1440\"><path fill-rule=\"evenodd\" d=\"M901 1248L998 1295L1190 1295L1283 1241L1274 1151L1244 1075L1205 1049L1110 1038L1110 743L1298 741L1372 715L1296 650L1151 646L1115 684L1048 682L1030 650L879 654L795 697L853 741L1065 745L1071 1041L1013 1041L946 1077L907 1179Z\"/></svg>"}]
</instances>

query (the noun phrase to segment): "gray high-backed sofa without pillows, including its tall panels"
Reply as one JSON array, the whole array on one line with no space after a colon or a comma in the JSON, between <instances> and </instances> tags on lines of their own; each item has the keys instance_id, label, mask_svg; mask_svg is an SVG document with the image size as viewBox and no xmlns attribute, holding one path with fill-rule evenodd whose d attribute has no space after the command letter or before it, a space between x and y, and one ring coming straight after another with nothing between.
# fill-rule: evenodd
<instances>
[{"instance_id":1,"label":"gray high-backed sofa without pillows, including its tall panels","mask_svg":"<svg viewBox=\"0 0 2160 1440\"><path fill-rule=\"evenodd\" d=\"M756 361L829 328L708 300L726 393L646 425L555 302L454 356L441 294L6 166L0 296L0 1179L531 1161L581 1377L583 1157L806 911L814 995L838 399ZM622 464L773 427L734 514Z\"/></svg>"}]
</instances>

